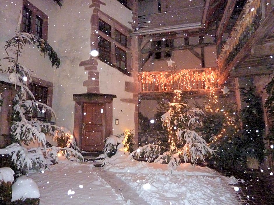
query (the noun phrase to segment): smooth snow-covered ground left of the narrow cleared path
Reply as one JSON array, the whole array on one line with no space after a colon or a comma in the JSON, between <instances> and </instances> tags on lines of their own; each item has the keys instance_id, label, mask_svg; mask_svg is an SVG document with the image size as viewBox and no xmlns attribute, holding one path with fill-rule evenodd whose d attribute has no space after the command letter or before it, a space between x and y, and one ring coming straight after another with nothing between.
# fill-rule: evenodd
<instances>
[{"instance_id":1,"label":"smooth snow-covered ground left of the narrow cleared path","mask_svg":"<svg viewBox=\"0 0 274 205\"><path fill-rule=\"evenodd\" d=\"M102 169L103 170L103 169ZM127 204L86 163L59 163L45 173L29 174L40 190L40 205Z\"/></svg>"}]
</instances>

